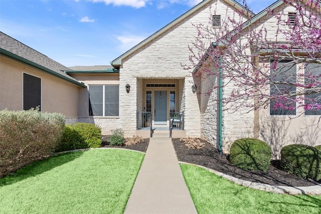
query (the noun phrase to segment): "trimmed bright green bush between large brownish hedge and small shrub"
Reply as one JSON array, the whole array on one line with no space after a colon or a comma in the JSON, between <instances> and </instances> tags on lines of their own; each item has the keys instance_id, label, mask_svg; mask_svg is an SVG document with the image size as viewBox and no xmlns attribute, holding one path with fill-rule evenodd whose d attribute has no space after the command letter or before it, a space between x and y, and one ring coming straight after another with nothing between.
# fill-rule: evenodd
<instances>
[{"instance_id":1,"label":"trimmed bright green bush between large brownish hedge and small shrub","mask_svg":"<svg viewBox=\"0 0 321 214\"><path fill-rule=\"evenodd\" d=\"M75 123L65 126L62 141L56 151L98 148L100 145L101 128L91 123Z\"/></svg>"}]
</instances>

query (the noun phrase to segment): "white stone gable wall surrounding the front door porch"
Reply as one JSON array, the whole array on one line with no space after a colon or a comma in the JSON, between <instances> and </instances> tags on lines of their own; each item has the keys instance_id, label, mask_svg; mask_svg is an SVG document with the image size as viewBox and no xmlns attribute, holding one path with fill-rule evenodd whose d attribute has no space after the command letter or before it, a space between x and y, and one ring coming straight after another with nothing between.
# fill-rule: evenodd
<instances>
[{"instance_id":1,"label":"white stone gable wall surrounding the front door porch","mask_svg":"<svg viewBox=\"0 0 321 214\"><path fill-rule=\"evenodd\" d=\"M212 12L222 16L225 20L226 13L234 14L234 11L225 3L211 1L203 8L196 11L190 17L178 23L162 35L154 38L126 59L122 60L120 67L120 89L126 84L131 86L130 93L120 90L120 123L126 135L135 133L136 110L142 93L137 87L138 79L180 79L180 87L184 87L182 93L181 110L185 111L185 129L187 136L199 137L201 133L201 115L197 95L192 93L194 84L191 75L192 70L184 70L182 64L189 64L191 44L197 36L197 29L192 24L207 24L210 18L210 4ZM208 42L208 46L210 45ZM184 84L181 84L183 79ZM180 96L180 95L179 95ZM136 107L137 106L137 107Z\"/></svg>"}]
</instances>

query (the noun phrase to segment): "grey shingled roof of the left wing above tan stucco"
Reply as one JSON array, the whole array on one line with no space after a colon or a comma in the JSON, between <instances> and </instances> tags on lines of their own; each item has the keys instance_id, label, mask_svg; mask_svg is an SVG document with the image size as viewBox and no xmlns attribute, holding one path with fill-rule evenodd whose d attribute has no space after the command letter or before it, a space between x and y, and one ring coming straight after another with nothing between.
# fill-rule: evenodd
<instances>
[{"instance_id":1,"label":"grey shingled roof of the left wing above tan stucco","mask_svg":"<svg viewBox=\"0 0 321 214\"><path fill-rule=\"evenodd\" d=\"M69 68L26 46L18 40L13 39L3 32L0 32L0 54L27 63L80 87L86 87L84 83L79 82L64 72L65 70L70 70Z\"/></svg>"}]
</instances>

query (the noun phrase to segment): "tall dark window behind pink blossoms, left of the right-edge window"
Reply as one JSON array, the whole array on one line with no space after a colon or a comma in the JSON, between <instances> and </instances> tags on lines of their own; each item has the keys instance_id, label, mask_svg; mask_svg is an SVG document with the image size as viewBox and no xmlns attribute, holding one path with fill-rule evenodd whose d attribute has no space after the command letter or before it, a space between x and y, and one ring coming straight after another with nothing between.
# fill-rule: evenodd
<instances>
[{"instance_id":1,"label":"tall dark window behind pink blossoms, left of the right-edge window","mask_svg":"<svg viewBox=\"0 0 321 214\"><path fill-rule=\"evenodd\" d=\"M271 69L271 81L290 83L286 84L270 84L270 95L281 95L296 91L296 87L291 85L296 82L296 65L289 64L290 60L282 60L277 63L278 69ZM271 64L273 61L271 61ZM286 64L286 65L285 65ZM281 67L282 66L282 67ZM280 68L281 67L281 68ZM275 99L270 102L270 115L296 115L296 102L291 99ZM281 104L281 106L276 106Z\"/></svg>"}]
</instances>

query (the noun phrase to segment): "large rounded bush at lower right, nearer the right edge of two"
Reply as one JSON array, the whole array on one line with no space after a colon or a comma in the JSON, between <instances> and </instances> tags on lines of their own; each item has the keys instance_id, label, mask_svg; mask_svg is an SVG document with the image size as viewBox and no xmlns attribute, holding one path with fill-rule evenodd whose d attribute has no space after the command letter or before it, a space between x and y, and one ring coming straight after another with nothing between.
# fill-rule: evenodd
<instances>
[{"instance_id":1,"label":"large rounded bush at lower right, nearer the right edge of two","mask_svg":"<svg viewBox=\"0 0 321 214\"><path fill-rule=\"evenodd\" d=\"M301 144L284 146L281 149L281 167L284 171L302 178L321 179L321 152Z\"/></svg>"}]
</instances>

